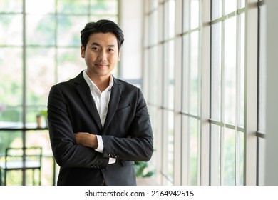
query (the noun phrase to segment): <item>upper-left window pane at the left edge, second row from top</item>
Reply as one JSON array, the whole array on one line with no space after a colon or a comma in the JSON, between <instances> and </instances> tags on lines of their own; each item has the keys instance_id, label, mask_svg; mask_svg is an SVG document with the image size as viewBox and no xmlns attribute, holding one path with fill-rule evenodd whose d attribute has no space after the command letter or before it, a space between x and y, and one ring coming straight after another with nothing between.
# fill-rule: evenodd
<instances>
[{"instance_id":1,"label":"upper-left window pane at the left edge, second row from top","mask_svg":"<svg viewBox=\"0 0 278 200\"><path fill-rule=\"evenodd\" d=\"M16 24L16 26L14 26ZM0 17L0 45L21 46L22 40L22 15L5 14Z\"/></svg>"}]
</instances>

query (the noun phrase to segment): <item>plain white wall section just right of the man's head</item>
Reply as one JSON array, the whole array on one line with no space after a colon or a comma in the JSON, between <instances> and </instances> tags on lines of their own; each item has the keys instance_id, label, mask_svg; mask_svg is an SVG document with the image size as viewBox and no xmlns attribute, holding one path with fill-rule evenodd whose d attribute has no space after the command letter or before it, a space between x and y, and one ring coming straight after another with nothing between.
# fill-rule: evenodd
<instances>
[{"instance_id":1,"label":"plain white wall section just right of the man's head","mask_svg":"<svg viewBox=\"0 0 278 200\"><path fill-rule=\"evenodd\" d=\"M141 79L143 1L120 0L119 6L119 25L125 35L120 58L120 79Z\"/></svg>"}]
</instances>

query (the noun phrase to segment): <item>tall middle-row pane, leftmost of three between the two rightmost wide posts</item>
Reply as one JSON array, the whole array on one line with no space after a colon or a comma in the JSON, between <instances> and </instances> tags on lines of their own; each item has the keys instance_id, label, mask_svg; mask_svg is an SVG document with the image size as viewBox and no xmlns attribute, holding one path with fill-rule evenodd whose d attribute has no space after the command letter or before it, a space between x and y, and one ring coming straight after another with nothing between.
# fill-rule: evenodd
<instances>
[{"instance_id":1,"label":"tall middle-row pane, leftmost of three between the two rightmost wide posts","mask_svg":"<svg viewBox=\"0 0 278 200\"><path fill-rule=\"evenodd\" d=\"M221 117L221 23L212 25L212 65L211 65L211 118Z\"/></svg>"}]
</instances>

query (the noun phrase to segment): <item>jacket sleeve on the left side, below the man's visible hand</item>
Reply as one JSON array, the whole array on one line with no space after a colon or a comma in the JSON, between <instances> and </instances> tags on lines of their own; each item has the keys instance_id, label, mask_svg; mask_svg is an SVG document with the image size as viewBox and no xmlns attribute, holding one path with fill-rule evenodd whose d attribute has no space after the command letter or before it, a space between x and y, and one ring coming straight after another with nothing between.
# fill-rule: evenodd
<instances>
[{"instance_id":1,"label":"jacket sleeve on the left side, below the man's visible hand","mask_svg":"<svg viewBox=\"0 0 278 200\"><path fill-rule=\"evenodd\" d=\"M66 99L59 85L53 86L48 97L48 126L53 155L59 166L103 169L108 158L92 148L76 144Z\"/></svg>"}]
</instances>

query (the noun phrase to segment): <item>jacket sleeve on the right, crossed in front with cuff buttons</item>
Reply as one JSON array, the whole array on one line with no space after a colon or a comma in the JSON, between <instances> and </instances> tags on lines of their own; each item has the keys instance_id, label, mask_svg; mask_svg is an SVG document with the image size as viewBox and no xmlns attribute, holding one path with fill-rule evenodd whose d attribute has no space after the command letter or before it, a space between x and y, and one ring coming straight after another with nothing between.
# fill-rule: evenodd
<instances>
[{"instance_id":1,"label":"jacket sleeve on the right, crossed in front with cuff buttons","mask_svg":"<svg viewBox=\"0 0 278 200\"><path fill-rule=\"evenodd\" d=\"M128 138L103 135L103 156L126 161L149 161L153 155L153 131L143 94L138 89L135 114Z\"/></svg>"}]
</instances>

